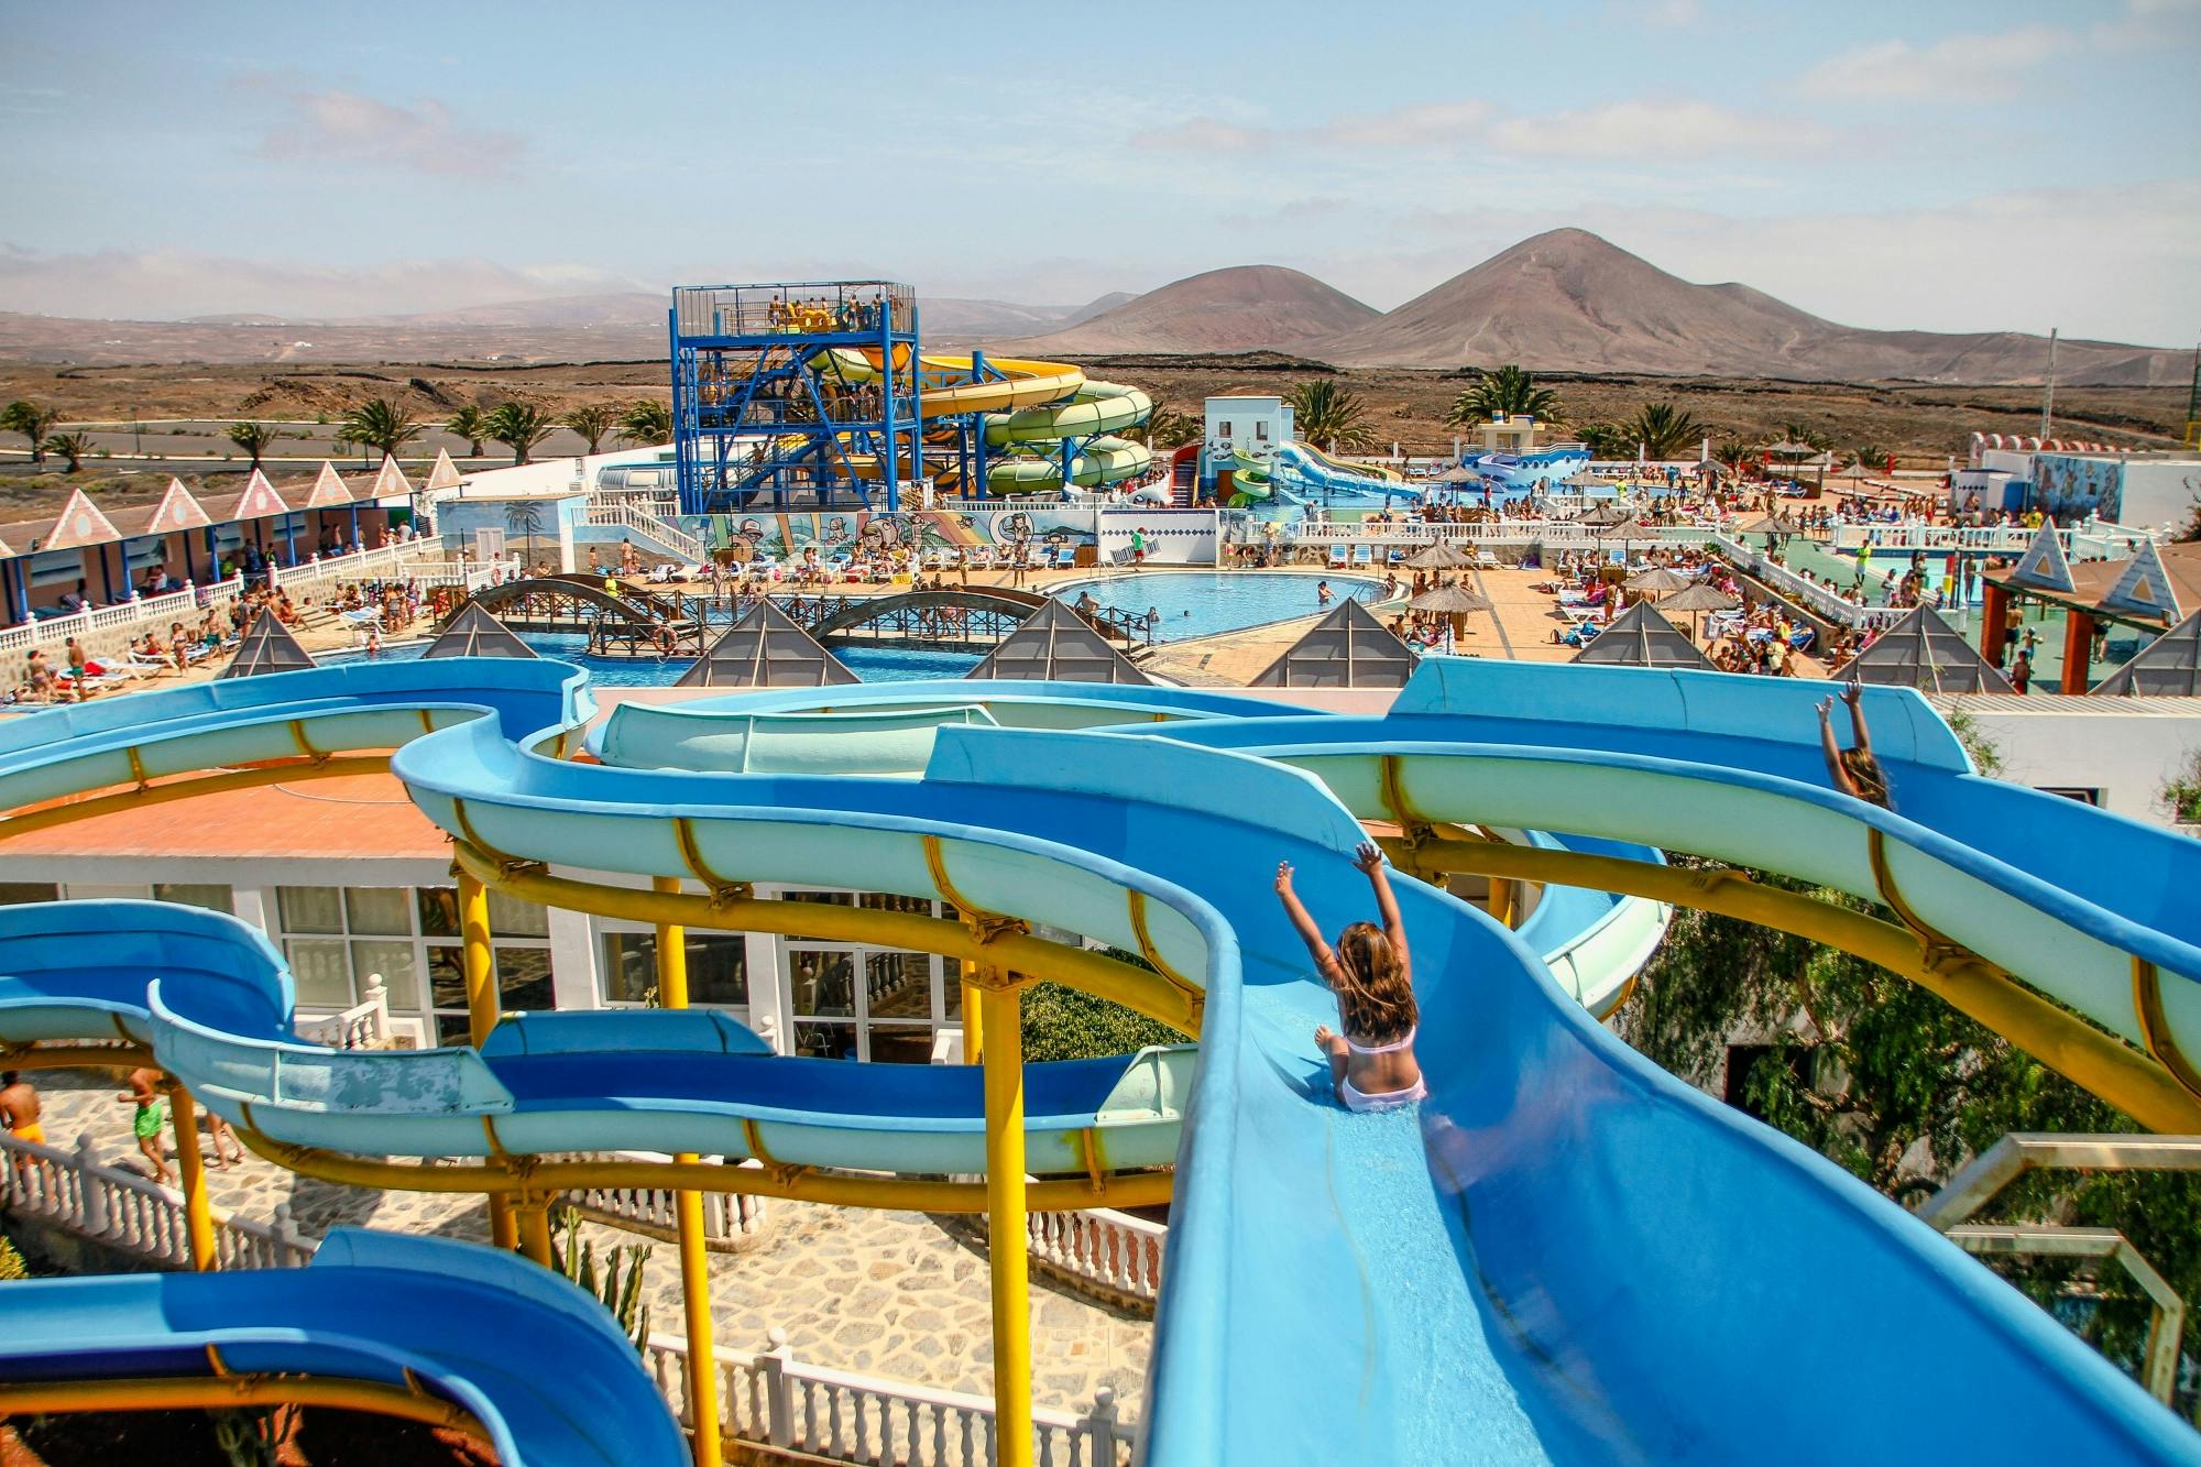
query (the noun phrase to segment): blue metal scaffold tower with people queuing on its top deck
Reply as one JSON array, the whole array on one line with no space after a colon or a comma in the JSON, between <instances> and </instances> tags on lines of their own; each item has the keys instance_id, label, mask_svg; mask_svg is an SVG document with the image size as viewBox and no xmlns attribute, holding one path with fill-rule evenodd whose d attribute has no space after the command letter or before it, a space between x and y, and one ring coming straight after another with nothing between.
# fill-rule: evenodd
<instances>
[{"instance_id":1,"label":"blue metal scaffold tower with people queuing on its top deck","mask_svg":"<svg viewBox=\"0 0 2201 1467\"><path fill-rule=\"evenodd\" d=\"M682 513L900 509L924 471L916 291L676 286L667 315Z\"/></svg>"}]
</instances>

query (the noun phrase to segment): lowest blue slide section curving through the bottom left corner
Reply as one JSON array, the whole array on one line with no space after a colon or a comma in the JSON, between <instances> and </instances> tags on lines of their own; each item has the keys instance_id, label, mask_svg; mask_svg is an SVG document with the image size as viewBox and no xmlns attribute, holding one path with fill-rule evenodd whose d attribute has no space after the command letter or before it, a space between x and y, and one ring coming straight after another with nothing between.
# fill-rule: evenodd
<instances>
[{"instance_id":1,"label":"lowest blue slide section curving through the bottom left corner","mask_svg":"<svg viewBox=\"0 0 2201 1467\"><path fill-rule=\"evenodd\" d=\"M504 1467L678 1467L680 1425L603 1306L467 1242L339 1227L306 1269L22 1280L0 1379L317 1377L471 1414Z\"/></svg>"}]
</instances>

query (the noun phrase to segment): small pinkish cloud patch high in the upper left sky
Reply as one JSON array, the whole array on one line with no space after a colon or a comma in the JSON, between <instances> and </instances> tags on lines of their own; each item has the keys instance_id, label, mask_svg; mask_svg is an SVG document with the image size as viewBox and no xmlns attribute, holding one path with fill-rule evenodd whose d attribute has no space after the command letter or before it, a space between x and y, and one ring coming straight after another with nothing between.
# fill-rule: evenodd
<instances>
[{"instance_id":1,"label":"small pinkish cloud patch high in the upper left sky","mask_svg":"<svg viewBox=\"0 0 2201 1467\"><path fill-rule=\"evenodd\" d=\"M295 90L273 77L240 77L238 90L262 93L277 115L260 137L262 159L354 163L442 178L511 181L526 154L515 132L464 128L436 99L398 106L343 88Z\"/></svg>"}]
</instances>

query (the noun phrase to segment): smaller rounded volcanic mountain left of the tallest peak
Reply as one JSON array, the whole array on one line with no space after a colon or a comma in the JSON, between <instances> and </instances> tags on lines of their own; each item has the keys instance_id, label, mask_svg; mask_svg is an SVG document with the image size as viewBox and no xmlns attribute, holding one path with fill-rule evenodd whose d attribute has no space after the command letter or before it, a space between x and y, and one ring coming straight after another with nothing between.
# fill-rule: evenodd
<instances>
[{"instance_id":1,"label":"smaller rounded volcanic mountain left of the tallest peak","mask_svg":"<svg viewBox=\"0 0 2201 1467\"><path fill-rule=\"evenodd\" d=\"M1109 352L1250 352L1327 337L1376 319L1373 306L1281 264L1237 264L1186 275L1045 337L1001 341L1001 352L1105 357Z\"/></svg>"}]
</instances>

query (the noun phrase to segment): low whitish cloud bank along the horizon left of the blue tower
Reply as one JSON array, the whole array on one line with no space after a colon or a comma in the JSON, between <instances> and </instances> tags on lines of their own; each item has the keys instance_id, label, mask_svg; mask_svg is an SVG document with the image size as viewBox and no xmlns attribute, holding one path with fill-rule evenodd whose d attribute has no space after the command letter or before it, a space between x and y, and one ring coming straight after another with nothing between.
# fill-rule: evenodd
<instances>
[{"instance_id":1,"label":"low whitish cloud bank along the horizon left of the blue tower","mask_svg":"<svg viewBox=\"0 0 2201 1467\"><path fill-rule=\"evenodd\" d=\"M350 317L460 306L658 291L588 264L508 267L491 260L390 260L372 267L321 267L293 260L240 260L180 249L103 249L44 253L0 244L0 311L176 319L262 311L293 317Z\"/></svg>"}]
</instances>

